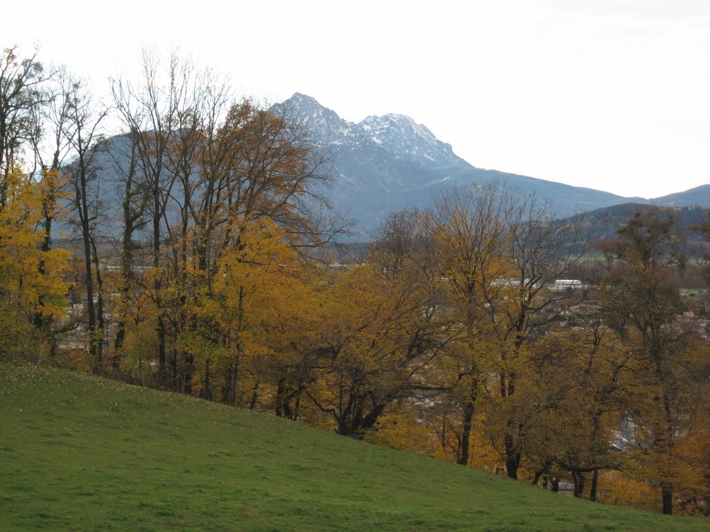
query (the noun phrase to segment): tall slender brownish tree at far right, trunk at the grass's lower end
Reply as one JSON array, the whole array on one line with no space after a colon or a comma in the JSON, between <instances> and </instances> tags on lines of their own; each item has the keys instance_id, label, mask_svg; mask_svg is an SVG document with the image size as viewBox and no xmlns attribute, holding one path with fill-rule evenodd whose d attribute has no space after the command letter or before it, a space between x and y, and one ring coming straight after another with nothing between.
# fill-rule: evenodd
<instances>
[{"instance_id":1,"label":"tall slender brownish tree at far right, trunk at the grass's lower end","mask_svg":"<svg viewBox=\"0 0 710 532\"><path fill-rule=\"evenodd\" d=\"M603 298L611 326L640 361L643 383L636 398L638 457L660 487L662 511L673 512L677 440L695 401L687 377L694 373L692 335L679 327L679 275L684 266L674 218L637 213L618 231L606 253Z\"/></svg>"}]
</instances>

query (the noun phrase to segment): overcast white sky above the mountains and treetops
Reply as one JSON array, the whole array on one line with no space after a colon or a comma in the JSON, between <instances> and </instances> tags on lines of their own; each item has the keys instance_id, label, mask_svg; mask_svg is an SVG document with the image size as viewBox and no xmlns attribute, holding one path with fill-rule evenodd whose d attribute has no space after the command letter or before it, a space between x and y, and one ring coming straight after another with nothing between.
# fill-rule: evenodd
<instances>
[{"instance_id":1,"label":"overcast white sky above the mountains and treetops","mask_svg":"<svg viewBox=\"0 0 710 532\"><path fill-rule=\"evenodd\" d=\"M39 43L97 93L143 46L177 46L244 96L407 114L477 167L624 196L710 183L710 0L41 0L3 18L2 48Z\"/></svg>"}]
</instances>

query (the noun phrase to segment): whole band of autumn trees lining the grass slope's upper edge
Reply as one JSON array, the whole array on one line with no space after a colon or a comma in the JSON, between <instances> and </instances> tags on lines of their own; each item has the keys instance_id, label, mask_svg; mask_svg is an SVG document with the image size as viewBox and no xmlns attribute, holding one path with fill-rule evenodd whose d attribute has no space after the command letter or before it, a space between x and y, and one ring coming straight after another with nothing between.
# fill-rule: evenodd
<instances>
[{"instance_id":1,"label":"whole band of autumn trees lining the grass slope's upper edge","mask_svg":"<svg viewBox=\"0 0 710 532\"><path fill-rule=\"evenodd\" d=\"M472 186L344 260L327 157L288 109L176 55L143 67L109 109L34 55L0 58L2 354L708 513L708 351L679 318L704 262L672 214L580 253L581 220Z\"/></svg>"}]
</instances>

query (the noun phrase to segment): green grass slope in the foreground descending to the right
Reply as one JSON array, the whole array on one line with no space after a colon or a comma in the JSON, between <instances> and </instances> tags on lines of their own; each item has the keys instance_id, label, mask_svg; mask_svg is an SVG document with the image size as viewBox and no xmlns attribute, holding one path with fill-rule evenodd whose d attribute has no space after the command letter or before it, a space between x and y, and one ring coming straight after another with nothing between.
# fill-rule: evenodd
<instances>
[{"instance_id":1,"label":"green grass slope in the foreground descending to the right","mask_svg":"<svg viewBox=\"0 0 710 532\"><path fill-rule=\"evenodd\" d=\"M0 362L2 531L696 531L273 416Z\"/></svg>"}]
</instances>

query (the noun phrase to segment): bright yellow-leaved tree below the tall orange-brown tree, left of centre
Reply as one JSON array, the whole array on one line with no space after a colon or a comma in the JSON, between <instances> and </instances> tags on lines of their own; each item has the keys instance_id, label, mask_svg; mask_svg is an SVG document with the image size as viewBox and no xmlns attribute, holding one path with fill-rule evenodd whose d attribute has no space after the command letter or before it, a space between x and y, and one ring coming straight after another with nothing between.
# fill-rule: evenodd
<instances>
[{"instance_id":1,"label":"bright yellow-leaved tree below the tall orange-brown tree, left of centre","mask_svg":"<svg viewBox=\"0 0 710 532\"><path fill-rule=\"evenodd\" d=\"M221 377L222 401L239 404L246 392L256 394L269 384L261 371L268 359L284 355L297 341L294 324L307 298L283 228L270 218L235 219L232 225L238 236L221 251L217 275L197 298L196 326L181 341L202 366L195 382L202 397L214 397L214 379Z\"/></svg>"}]
</instances>

